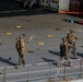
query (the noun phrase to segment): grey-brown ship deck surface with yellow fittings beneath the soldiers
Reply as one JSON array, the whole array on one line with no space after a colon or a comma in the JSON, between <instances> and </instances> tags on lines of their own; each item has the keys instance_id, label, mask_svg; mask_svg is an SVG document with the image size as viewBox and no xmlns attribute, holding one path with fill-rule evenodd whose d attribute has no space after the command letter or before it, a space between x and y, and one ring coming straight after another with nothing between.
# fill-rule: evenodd
<instances>
[{"instance_id":1,"label":"grey-brown ship deck surface with yellow fittings beneath the soldiers","mask_svg":"<svg viewBox=\"0 0 83 82\"><path fill-rule=\"evenodd\" d=\"M20 8L17 3L15 4L16 5L14 7L16 9ZM36 66L36 63L49 63L60 60L59 45L61 43L61 38L67 36L70 28L75 31L75 35L79 38L75 40L78 58L83 58L83 26L76 23L68 23L62 21L63 17L73 17L78 20L82 19L67 14L57 14L43 9L26 10L25 8L22 8L22 10L17 10L21 12L11 11L11 13L8 12L10 10L5 10L8 13L5 11L1 11L3 13L0 13L0 39L2 40L2 45L0 45L0 67L13 67L8 69L8 74L21 73L28 70L26 67L15 69L19 60L15 43L16 37L21 34L25 34L25 40L28 40L31 35L34 36L31 43L25 44L26 50L28 51L25 54L25 62L26 65L32 65L31 71L47 70L50 68L49 65ZM21 26L21 28L17 28L16 26ZM7 33L11 33L11 35L8 35ZM71 60L75 60L72 57L73 55L71 51ZM80 61L73 63L74 66L79 66ZM57 69L58 65L52 63L51 68ZM78 70L79 69L71 69L70 71L72 72ZM56 75L55 70L51 73L52 75ZM15 75L14 78L11 75L11 79L13 80L17 77L25 79L27 78L27 74L23 75L22 73L22 75ZM49 77L49 73L45 71L42 73L36 73L36 75L35 73L29 74L29 78L32 77Z\"/></svg>"}]
</instances>

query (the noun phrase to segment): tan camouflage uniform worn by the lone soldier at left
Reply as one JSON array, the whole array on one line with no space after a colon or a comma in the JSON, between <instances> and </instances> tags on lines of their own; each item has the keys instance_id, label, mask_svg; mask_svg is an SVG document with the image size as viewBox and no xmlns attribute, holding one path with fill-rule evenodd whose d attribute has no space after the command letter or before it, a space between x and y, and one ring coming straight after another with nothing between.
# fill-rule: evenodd
<instances>
[{"instance_id":1,"label":"tan camouflage uniform worn by the lone soldier at left","mask_svg":"<svg viewBox=\"0 0 83 82\"><path fill-rule=\"evenodd\" d=\"M23 35L20 36L20 39L16 43L16 49L19 51L19 61L17 61L17 66L20 66L21 63L25 65L24 61L24 55L25 55L25 40Z\"/></svg>"}]
</instances>

